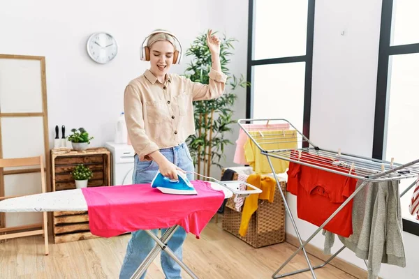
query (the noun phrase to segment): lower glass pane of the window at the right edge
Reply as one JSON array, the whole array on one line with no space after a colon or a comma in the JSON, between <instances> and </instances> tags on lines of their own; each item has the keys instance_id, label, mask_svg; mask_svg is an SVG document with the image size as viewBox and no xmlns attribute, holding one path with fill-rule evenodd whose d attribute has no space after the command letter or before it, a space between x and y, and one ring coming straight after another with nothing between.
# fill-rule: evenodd
<instances>
[{"instance_id":1,"label":"lower glass pane of the window at the right edge","mask_svg":"<svg viewBox=\"0 0 419 279\"><path fill-rule=\"evenodd\" d=\"M385 159L395 158L395 162L404 164L419 158L416 146L419 139L419 54L390 56L389 73ZM403 179L400 193L413 181ZM413 188L402 197L402 216L409 220L415 220L409 213Z\"/></svg>"}]
</instances>

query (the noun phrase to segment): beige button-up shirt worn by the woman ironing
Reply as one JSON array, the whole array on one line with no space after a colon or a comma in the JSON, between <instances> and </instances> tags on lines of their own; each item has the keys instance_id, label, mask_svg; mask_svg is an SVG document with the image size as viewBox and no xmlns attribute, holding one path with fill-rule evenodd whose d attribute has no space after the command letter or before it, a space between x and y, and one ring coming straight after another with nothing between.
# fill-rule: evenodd
<instances>
[{"instance_id":1,"label":"beige button-up shirt worn by the woman ironing","mask_svg":"<svg viewBox=\"0 0 419 279\"><path fill-rule=\"evenodd\" d=\"M128 137L140 160L149 153L182 144L196 133L194 100L218 98L224 92L227 76L211 69L210 84L192 82L167 74L164 84L146 70L126 86L124 114Z\"/></svg>"}]
</instances>

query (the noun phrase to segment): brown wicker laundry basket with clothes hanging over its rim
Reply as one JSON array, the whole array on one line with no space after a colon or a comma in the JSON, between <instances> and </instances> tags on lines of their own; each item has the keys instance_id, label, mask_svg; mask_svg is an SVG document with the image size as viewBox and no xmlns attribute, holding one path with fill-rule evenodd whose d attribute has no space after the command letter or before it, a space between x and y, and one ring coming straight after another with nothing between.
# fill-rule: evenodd
<instances>
[{"instance_id":1,"label":"brown wicker laundry basket with clothes hanging over its rim","mask_svg":"<svg viewBox=\"0 0 419 279\"><path fill-rule=\"evenodd\" d=\"M237 180L237 175L233 179ZM286 193L286 182L281 181L280 185L282 191ZM223 229L255 248L282 243L285 241L285 213L284 201L278 186L276 186L274 202L271 203L267 200L258 201L258 209L251 216L247 234L242 237L239 234L242 212L235 210L233 196L228 199L224 209Z\"/></svg>"}]
</instances>

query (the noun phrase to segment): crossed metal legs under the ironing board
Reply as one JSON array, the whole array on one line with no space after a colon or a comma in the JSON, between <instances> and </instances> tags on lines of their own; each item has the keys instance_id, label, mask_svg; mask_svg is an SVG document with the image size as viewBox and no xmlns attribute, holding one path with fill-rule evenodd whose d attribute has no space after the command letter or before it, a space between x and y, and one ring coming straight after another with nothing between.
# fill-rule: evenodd
<instances>
[{"instance_id":1,"label":"crossed metal legs under the ironing board","mask_svg":"<svg viewBox=\"0 0 419 279\"><path fill-rule=\"evenodd\" d=\"M140 264L140 266L138 266L138 269L134 272L133 276L131 276L131 279L138 279L142 276L143 273L145 273L145 271L148 269L149 265L152 264L154 258L159 255L159 252L161 252L161 250L165 251L168 253L168 255L170 255L170 257L172 257L172 259L175 260L175 262L177 262L177 264L179 264L179 266L182 267L182 269L184 269L184 271L186 271L186 273L189 274L189 276L191 276L191 278L193 279L198 279L198 276L196 276L191 269L188 268L188 266L186 266L186 264L184 264L180 259L178 259L175 255L175 253L172 252L172 250L170 250L170 248L167 246L167 241L172 237L173 234L175 234L176 229L179 227L179 225L175 225L173 227L170 227L164 234L163 236L161 236L161 239L159 239L159 237L157 237L155 234L153 234L152 232L150 232L149 230L147 230L147 234L149 234L149 236L152 237L152 239L154 239L154 241L156 241L156 245L154 246L154 248L149 252L149 255L147 255L147 257L144 259L144 261Z\"/></svg>"}]
</instances>

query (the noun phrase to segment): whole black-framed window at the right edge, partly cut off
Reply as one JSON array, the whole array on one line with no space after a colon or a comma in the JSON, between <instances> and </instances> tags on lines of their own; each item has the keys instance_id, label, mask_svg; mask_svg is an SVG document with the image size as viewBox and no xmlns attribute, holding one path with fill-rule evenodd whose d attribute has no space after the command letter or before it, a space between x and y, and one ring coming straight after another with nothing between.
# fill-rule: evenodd
<instances>
[{"instance_id":1,"label":"whole black-framed window at the right edge, partly cut off","mask_svg":"<svg viewBox=\"0 0 419 279\"><path fill-rule=\"evenodd\" d=\"M408 163L419 158L419 17L417 0L383 0L374 127L374 158ZM414 179L405 179L400 192ZM409 213L413 188L401 199L404 230L419 235Z\"/></svg>"}]
</instances>

